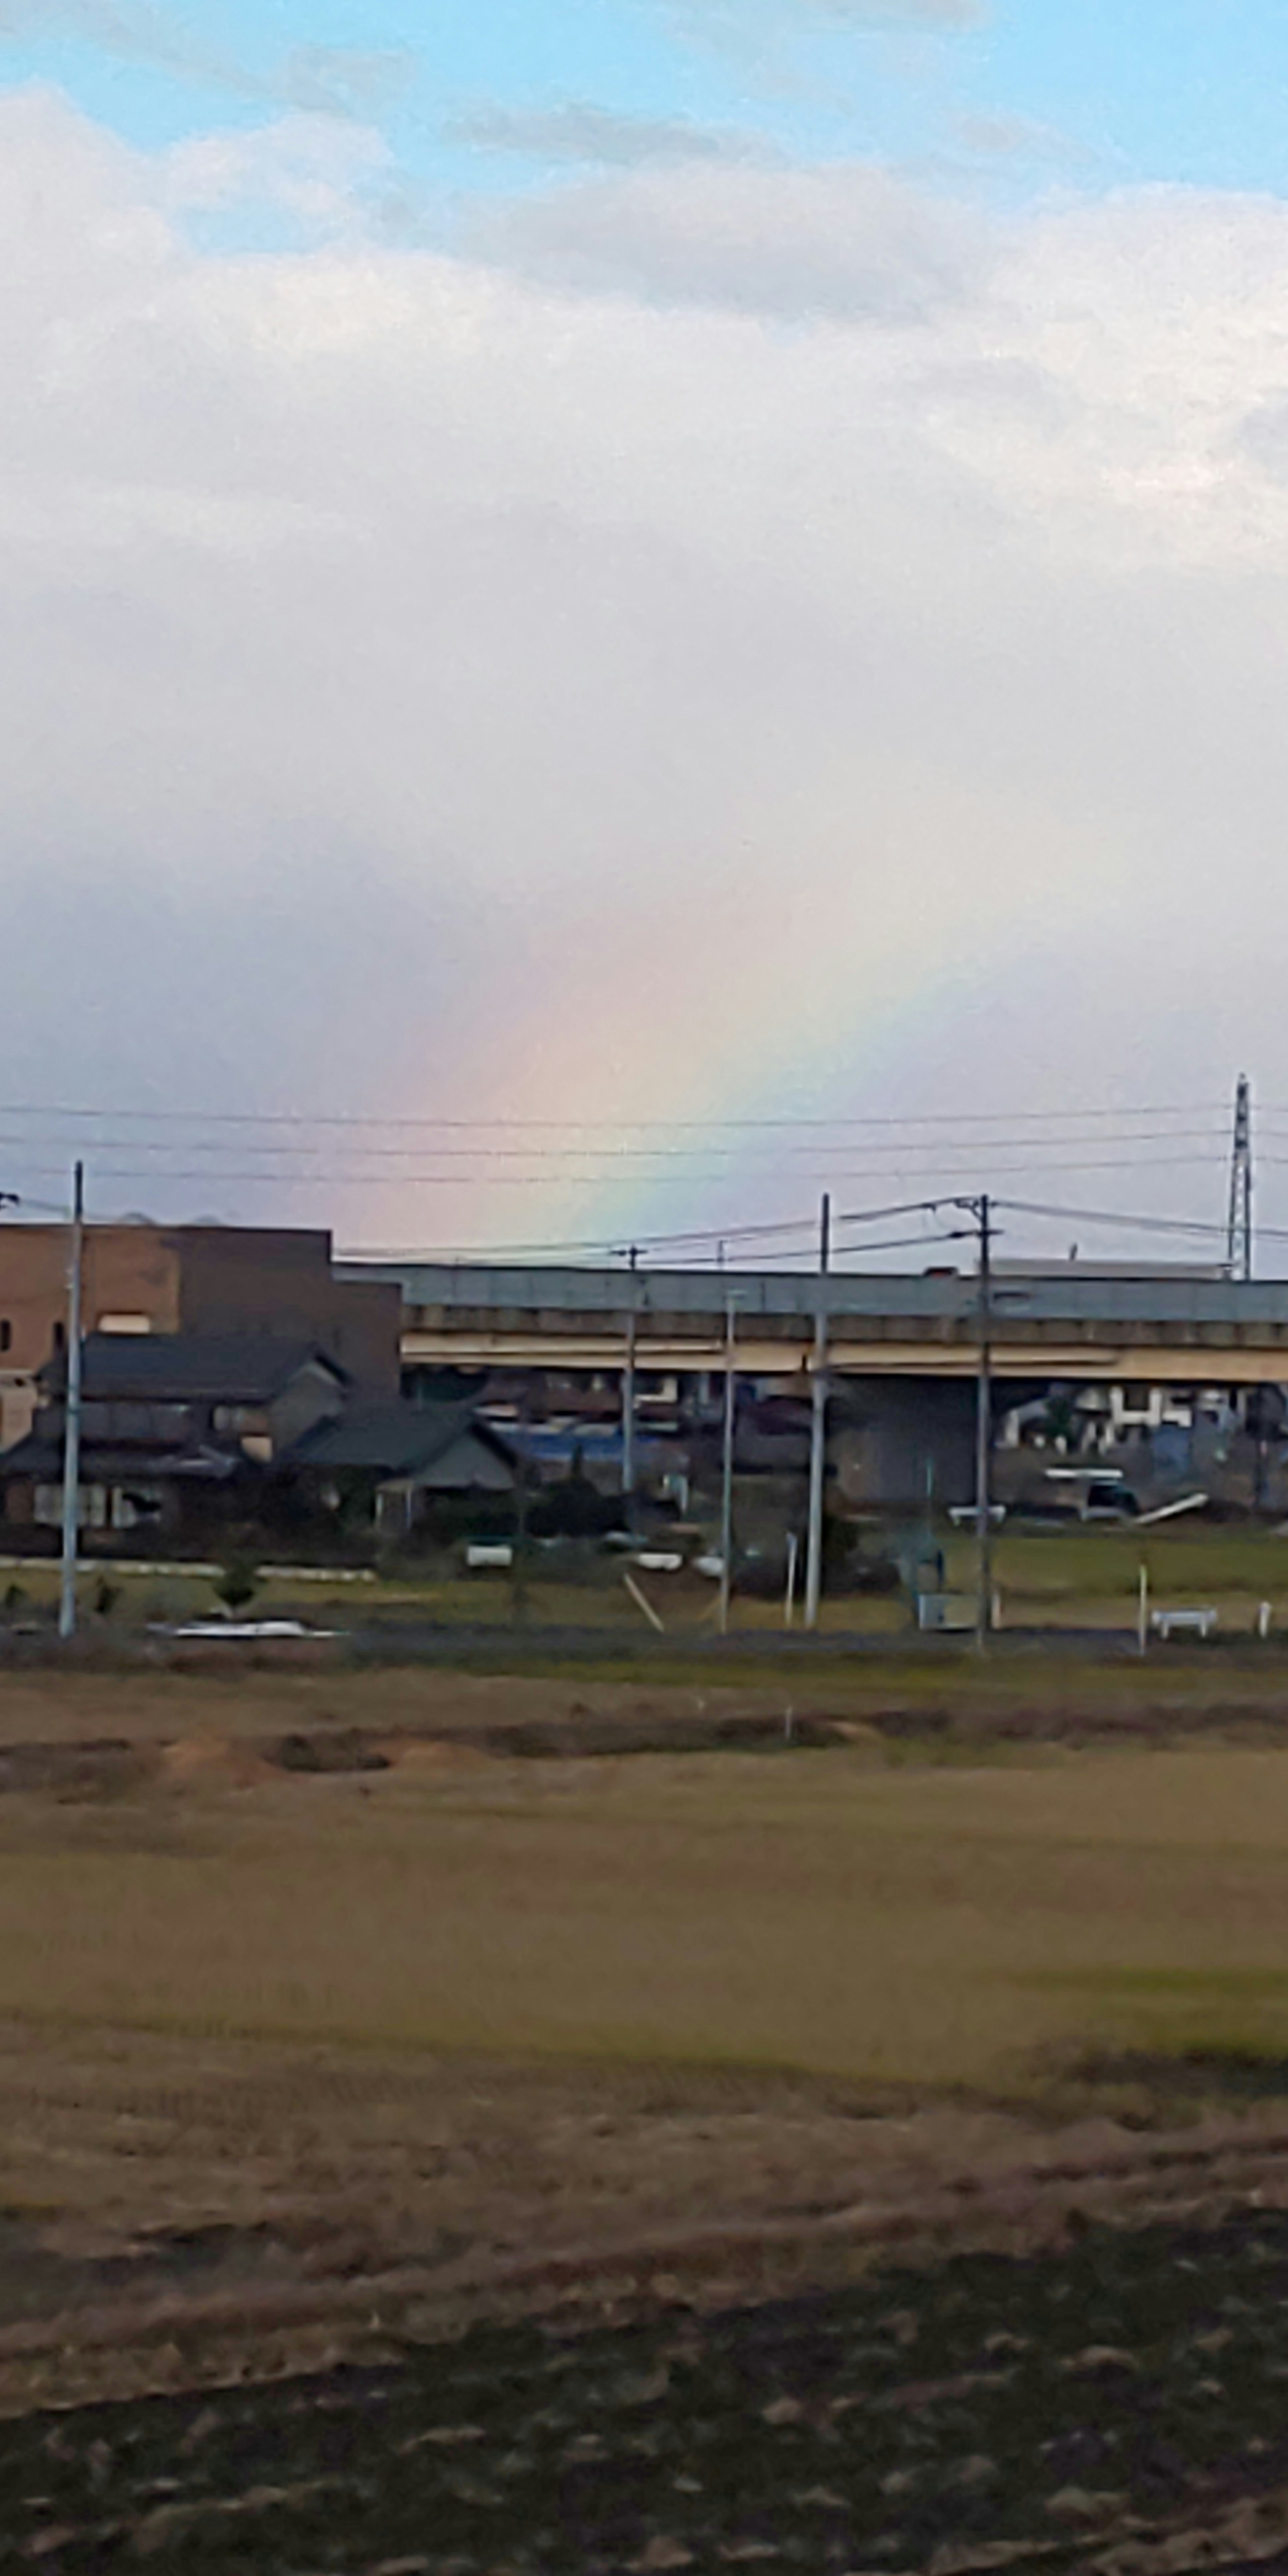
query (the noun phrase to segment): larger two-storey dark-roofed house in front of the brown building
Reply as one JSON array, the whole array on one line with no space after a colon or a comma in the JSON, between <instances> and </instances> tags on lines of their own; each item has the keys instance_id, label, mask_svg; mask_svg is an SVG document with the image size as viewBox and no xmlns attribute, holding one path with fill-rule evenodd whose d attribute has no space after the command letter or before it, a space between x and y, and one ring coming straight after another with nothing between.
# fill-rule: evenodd
<instances>
[{"instance_id":1,"label":"larger two-storey dark-roofed house in front of the brown building","mask_svg":"<svg viewBox=\"0 0 1288 2576\"><path fill-rule=\"evenodd\" d=\"M39 1373L26 1440L0 1453L10 1533L62 1520L67 1355ZM85 1342L80 1517L88 1530L183 1540L255 1510L278 1461L343 1414L348 1370L314 1342L268 1334L103 1334Z\"/></svg>"}]
</instances>

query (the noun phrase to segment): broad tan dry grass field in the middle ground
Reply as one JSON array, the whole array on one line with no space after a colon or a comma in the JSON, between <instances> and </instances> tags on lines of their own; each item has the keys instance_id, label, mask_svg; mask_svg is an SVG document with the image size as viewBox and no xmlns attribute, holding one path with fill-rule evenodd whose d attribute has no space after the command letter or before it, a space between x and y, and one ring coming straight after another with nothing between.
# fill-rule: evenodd
<instances>
[{"instance_id":1,"label":"broad tan dry grass field in the middle ground","mask_svg":"<svg viewBox=\"0 0 1288 2576\"><path fill-rule=\"evenodd\" d=\"M914 2092L1288 2053L1278 1752L178 1772L0 1803L0 2014Z\"/></svg>"}]
</instances>

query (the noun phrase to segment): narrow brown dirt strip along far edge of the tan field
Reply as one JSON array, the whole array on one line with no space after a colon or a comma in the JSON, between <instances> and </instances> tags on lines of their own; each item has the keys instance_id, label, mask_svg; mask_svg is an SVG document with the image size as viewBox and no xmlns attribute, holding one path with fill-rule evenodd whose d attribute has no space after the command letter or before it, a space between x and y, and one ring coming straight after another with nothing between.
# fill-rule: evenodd
<instances>
[{"instance_id":1,"label":"narrow brown dirt strip along far edge of the tan field","mask_svg":"<svg viewBox=\"0 0 1288 2576\"><path fill-rule=\"evenodd\" d=\"M312 1649L227 1646L59 1664L49 1651L0 1667L0 1749L13 1744L188 1736L281 1739L291 1731L497 1736L497 1749L665 1749L716 1741L724 1723L863 1723L902 1736L997 1741L1172 1741L1188 1734L1288 1744L1288 1659L1159 1651L1146 1664L1069 1664L1046 1651L979 1667L971 1656L837 1659L757 1672L459 1672Z\"/></svg>"}]
</instances>

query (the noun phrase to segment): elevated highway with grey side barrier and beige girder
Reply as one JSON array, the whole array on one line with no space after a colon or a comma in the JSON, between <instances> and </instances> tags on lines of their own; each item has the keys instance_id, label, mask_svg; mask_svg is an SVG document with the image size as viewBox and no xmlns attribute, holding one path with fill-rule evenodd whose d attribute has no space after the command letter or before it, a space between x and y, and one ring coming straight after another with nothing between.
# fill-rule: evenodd
<instances>
[{"instance_id":1,"label":"elevated highway with grey side barrier and beige girder","mask_svg":"<svg viewBox=\"0 0 1288 2576\"><path fill-rule=\"evenodd\" d=\"M809 1373L819 1280L770 1270L556 1270L484 1262L343 1262L402 1291L407 1368L621 1370L667 1376L724 1360L734 1301L747 1376ZM829 1365L842 1378L969 1378L979 1280L837 1270ZM1041 1383L1288 1386L1288 1280L1007 1270L992 1291L997 1378Z\"/></svg>"}]
</instances>

